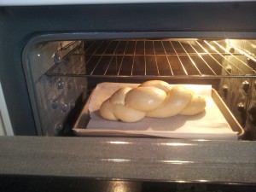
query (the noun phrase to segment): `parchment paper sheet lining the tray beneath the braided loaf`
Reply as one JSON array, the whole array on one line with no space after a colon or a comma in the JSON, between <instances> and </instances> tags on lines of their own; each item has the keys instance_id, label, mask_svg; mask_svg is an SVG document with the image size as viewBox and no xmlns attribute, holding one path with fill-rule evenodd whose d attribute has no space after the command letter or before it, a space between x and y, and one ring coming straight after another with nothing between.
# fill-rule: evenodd
<instances>
[{"instance_id":1,"label":"parchment paper sheet lining the tray beneath the braided loaf","mask_svg":"<svg viewBox=\"0 0 256 192\"><path fill-rule=\"evenodd\" d=\"M232 131L215 102L212 100L211 85L184 84L192 88L195 94L205 96L205 112L192 116L176 115L171 118L148 118L135 123L124 123L102 119L99 108L115 90L121 87L137 87L138 84L102 83L96 86L91 96L89 111L90 122L84 131L102 134L127 133L143 134L157 137L191 138L191 139L228 139L237 140L237 132Z\"/></svg>"}]
</instances>

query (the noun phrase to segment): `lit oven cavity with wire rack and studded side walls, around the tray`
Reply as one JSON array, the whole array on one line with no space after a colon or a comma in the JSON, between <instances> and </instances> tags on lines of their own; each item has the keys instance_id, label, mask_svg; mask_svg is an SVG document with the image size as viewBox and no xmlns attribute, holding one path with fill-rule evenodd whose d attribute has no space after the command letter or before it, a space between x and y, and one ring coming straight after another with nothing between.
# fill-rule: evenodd
<instances>
[{"instance_id":1,"label":"lit oven cavity with wire rack and studded side walls, around the tray","mask_svg":"<svg viewBox=\"0 0 256 192\"><path fill-rule=\"evenodd\" d=\"M73 135L74 122L97 84L161 79L211 84L243 128L241 139L256 139L253 39L43 41L25 49L23 64L39 135Z\"/></svg>"}]
</instances>

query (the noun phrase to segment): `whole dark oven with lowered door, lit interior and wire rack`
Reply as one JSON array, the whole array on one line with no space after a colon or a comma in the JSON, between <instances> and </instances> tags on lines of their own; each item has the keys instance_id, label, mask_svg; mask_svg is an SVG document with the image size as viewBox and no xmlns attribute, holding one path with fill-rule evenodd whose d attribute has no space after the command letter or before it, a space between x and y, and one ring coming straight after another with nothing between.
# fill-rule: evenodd
<instances>
[{"instance_id":1,"label":"whole dark oven with lowered door, lit interior and wire rack","mask_svg":"<svg viewBox=\"0 0 256 192\"><path fill-rule=\"evenodd\" d=\"M96 189L97 181L108 187L120 184L119 189L136 186L137 191L255 189L254 1L65 3L0 7L1 127L3 135L15 136L2 137L9 144L2 149L13 166L3 168L6 183L16 178L49 183L68 177L68 182L84 183L88 189L90 183ZM112 84L137 86L153 79L196 84L201 90L210 86L213 102L236 134L134 134L131 127L141 125L130 124L124 131L123 125L129 123L117 122L111 130L113 122L108 121L98 130L90 129L90 102L99 86L110 86L104 95ZM204 125L217 126L218 116L209 116L211 121L206 119ZM172 125L160 121L160 127ZM66 143L66 149L60 143ZM78 149L79 143L84 148ZM64 170L81 166L87 173L58 172L53 167L48 167L52 172L43 172L40 165L17 169L18 159L8 151L20 154L19 148L32 154L32 162L40 151L49 155L47 160L42 156L42 165L52 163L53 148L63 150L71 155L59 154L54 165L63 163ZM84 166L69 165L73 157L84 158ZM176 173L171 176L169 171ZM23 173L26 178L20 177Z\"/></svg>"}]
</instances>

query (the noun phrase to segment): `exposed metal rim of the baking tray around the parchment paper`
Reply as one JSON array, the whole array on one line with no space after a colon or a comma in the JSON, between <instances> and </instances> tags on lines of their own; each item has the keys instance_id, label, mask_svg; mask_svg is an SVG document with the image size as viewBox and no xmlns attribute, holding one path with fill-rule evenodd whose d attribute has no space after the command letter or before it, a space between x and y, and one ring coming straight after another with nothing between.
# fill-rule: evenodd
<instances>
[{"instance_id":1,"label":"exposed metal rim of the baking tray around the parchment paper","mask_svg":"<svg viewBox=\"0 0 256 192\"><path fill-rule=\"evenodd\" d=\"M119 137L119 136L125 136L125 137L161 137L158 135L144 135L140 134L138 131L134 130L111 130L111 129L90 129L87 128L88 123L90 122L90 112L89 112L89 106L90 106L90 100L91 97L94 95L94 91L92 91L90 98L85 103L84 108L82 112L79 114L79 118L77 119L75 125L73 126L73 132L76 136L113 136L113 137ZM216 106L218 107L219 111L223 114L224 119L230 126L232 131L236 131L237 138L240 139L243 135L244 131L241 127L241 125L238 123L234 115L230 112L230 109L227 108L221 97L218 95L218 92L214 89L211 89L212 94L212 100L215 102ZM109 122L109 121L108 121ZM113 122L110 122L113 123ZM125 124L125 123L124 123ZM183 138L183 137L173 137L173 138ZM201 139L201 137L196 137L196 139ZM202 138L203 139L203 138ZM213 137L214 139L214 137ZM217 138L219 139L219 138ZM212 139L211 139L212 140Z\"/></svg>"}]
</instances>

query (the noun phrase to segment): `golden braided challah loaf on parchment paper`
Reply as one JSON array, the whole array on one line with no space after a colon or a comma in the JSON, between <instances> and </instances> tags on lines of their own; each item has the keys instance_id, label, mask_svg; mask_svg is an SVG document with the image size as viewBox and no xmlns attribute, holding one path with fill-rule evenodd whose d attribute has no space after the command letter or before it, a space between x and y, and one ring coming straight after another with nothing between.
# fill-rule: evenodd
<instances>
[{"instance_id":1,"label":"golden braided challah loaf on parchment paper","mask_svg":"<svg viewBox=\"0 0 256 192\"><path fill-rule=\"evenodd\" d=\"M182 85L150 80L137 88L120 88L105 102L100 114L103 119L136 122L145 116L167 118L177 114L194 115L205 110L206 100Z\"/></svg>"}]
</instances>

